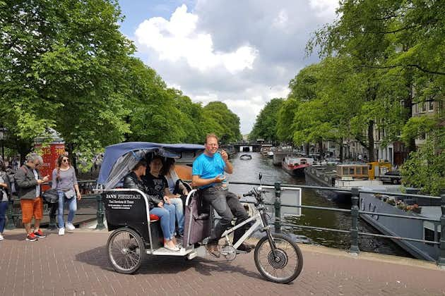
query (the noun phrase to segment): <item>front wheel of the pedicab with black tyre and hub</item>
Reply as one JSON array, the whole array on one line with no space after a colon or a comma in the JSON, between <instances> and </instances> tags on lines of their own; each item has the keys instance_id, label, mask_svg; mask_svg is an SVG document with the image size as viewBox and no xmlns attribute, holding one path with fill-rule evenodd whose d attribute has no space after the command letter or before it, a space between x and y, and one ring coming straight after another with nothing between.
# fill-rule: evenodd
<instances>
[{"instance_id":1,"label":"front wheel of the pedicab with black tyre and hub","mask_svg":"<svg viewBox=\"0 0 445 296\"><path fill-rule=\"evenodd\" d=\"M256 269L262 276L274 283L290 283L295 280L303 268L303 255L295 242L287 236L273 233L275 249L268 237L259 240L255 247Z\"/></svg>"}]
</instances>

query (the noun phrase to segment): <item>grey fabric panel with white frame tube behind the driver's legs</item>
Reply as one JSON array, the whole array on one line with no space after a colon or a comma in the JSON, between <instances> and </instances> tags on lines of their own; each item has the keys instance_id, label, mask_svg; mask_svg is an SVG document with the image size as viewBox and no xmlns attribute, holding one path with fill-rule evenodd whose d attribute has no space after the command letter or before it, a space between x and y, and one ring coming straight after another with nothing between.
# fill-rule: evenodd
<instances>
[{"instance_id":1,"label":"grey fabric panel with white frame tube behind the driver's legs","mask_svg":"<svg viewBox=\"0 0 445 296\"><path fill-rule=\"evenodd\" d=\"M210 206L201 196L201 190L191 190L185 206L184 246L202 242L210 236Z\"/></svg>"}]
</instances>

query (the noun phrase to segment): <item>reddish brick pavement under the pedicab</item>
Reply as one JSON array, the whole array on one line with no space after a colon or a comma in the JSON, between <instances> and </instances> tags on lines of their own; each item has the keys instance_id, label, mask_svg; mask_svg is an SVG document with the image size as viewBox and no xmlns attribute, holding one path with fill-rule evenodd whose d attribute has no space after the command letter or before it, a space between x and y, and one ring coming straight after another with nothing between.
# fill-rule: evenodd
<instances>
[{"instance_id":1,"label":"reddish brick pavement under the pedicab","mask_svg":"<svg viewBox=\"0 0 445 296\"><path fill-rule=\"evenodd\" d=\"M25 242L23 232L6 231L0 295L445 295L445 271L434 264L307 245L303 271L287 285L261 278L253 252L232 262L148 257L124 275L107 262L108 235L76 230Z\"/></svg>"}]
</instances>

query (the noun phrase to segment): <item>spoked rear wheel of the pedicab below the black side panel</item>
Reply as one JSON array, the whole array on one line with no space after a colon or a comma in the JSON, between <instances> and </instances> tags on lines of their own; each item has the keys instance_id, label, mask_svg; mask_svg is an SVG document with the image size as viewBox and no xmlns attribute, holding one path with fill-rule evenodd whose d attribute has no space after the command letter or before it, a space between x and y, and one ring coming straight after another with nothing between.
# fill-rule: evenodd
<instances>
[{"instance_id":1,"label":"spoked rear wheel of the pedicab below the black side panel","mask_svg":"<svg viewBox=\"0 0 445 296\"><path fill-rule=\"evenodd\" d=\"M119 273L134 273L146 257L141 235L131 228L114 230L107 242L108 260Z\"/></svg>"}]
</instances>

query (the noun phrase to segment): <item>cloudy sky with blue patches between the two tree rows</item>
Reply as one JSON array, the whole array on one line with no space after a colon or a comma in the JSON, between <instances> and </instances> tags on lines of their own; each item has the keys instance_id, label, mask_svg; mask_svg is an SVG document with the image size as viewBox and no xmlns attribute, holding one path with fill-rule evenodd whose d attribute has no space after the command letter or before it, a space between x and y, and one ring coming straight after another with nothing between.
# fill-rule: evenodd
<instances>
[{"instance_id":1,"label":"cloudy sky with blue patches between the two tree rows","mask_svg":"<svg viewBox=\"0 0 445 296\"><path fill-rule=\"evenodd\" d=\"M223 101L242 134L317 54L312 33L336 17L338 0L119 0L121 32L169 87L203 106Z\"/></svg>"}]
</instances>

